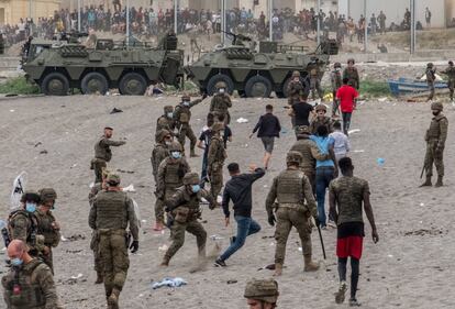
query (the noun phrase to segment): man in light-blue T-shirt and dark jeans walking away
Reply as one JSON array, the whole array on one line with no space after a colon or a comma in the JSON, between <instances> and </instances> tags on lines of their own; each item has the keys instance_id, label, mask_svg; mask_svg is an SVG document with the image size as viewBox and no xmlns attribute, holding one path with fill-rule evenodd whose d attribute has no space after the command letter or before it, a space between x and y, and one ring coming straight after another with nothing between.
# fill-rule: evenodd
<instances>
[{"instance_id":1,"label":"man in light-blue T-shirt and dark jeans walking away","mask_svg":"<svg viewBox=\"0 0 455 309\"><path fill-rule=\"evenodd\" d=\"M330 158L325 161L317 161L317 176L315 176L315 187L317 187L317 201L318 201L318 218L321 223L321 229L326 227L326 216L325 216L325 190L329 188L330 181L337 177L339 167L335 158L335 153L333 152L333 146L335 140L329 136L329 129L325 125L320 125L317 129L317 136L312 135L313 140L319 151L322 154L330 154ZM332 218L329 218L329 225L336 227Z\"/></svg>"}]
</instances>

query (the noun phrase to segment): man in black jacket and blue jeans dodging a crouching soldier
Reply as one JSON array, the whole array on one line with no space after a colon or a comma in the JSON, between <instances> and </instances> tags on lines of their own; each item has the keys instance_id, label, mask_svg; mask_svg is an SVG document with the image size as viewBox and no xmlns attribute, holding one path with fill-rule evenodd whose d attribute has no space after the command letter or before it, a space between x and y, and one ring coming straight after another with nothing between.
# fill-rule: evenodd
<instances>
[{"instance_id":1,"label":"man in black jacket and blue jeans dodging a crouching soldier","mask_svg":"<svg viewBox=\"0 0 455 309\"><path fill-rule=\"evenodd\" d=\"M225 225L230 224L229 202L234 203L234 219L237 222L237 235L231 242L226 251L215 261L215 266L224 267L226 261L232 254L240 250L244 244L246 236L260 231L260 225L252 219L252 185L254 181L265 175L263 168L251 165L249 174L241 174L237 163L228 165L231 179L225 184L223 191L223 212L225 216Z\"/></svg>"}]
</instances>

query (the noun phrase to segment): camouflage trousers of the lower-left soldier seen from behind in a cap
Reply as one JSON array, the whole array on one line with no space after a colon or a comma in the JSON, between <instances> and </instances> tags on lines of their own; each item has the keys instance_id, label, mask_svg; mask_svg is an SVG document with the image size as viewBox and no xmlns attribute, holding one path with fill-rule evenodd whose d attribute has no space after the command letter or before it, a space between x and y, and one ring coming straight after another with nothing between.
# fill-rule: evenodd
<instances>
[{"instance_id":1,"label":"camouflage trousers of the lower-left soldier seen from behind in a cap","mask_svg":"<svg viewBox=\"0 0 455 309\"><path fill-rule=\"evenodd\" d=\"M112 294L115 288L122 290L126 280L130 258L126 250L126 231L124 230L99 230L99 252L104 266L106 296Z\"/></svg>"}]
</instances>

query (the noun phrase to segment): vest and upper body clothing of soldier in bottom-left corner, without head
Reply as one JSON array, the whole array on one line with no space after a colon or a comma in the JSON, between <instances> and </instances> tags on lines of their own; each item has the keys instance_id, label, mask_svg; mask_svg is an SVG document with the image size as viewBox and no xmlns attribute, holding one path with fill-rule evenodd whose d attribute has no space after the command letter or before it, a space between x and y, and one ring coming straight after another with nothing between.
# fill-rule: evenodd
<instances>
[{"instance_id":1,"label":"vest and upper body clothing of soldier in bottom-left corner, without head","mask_svg":"<svg viewBox=\"0 0 455 309\"><path fill-rule=\"evenodd\" d=\"M21 269L12 268L1 279L7 304L13 308L41 308L46 305L46 298L36 283L37 271L41 267L46 266L41 260L34 258Z\"/></svg>"}]
</instances>

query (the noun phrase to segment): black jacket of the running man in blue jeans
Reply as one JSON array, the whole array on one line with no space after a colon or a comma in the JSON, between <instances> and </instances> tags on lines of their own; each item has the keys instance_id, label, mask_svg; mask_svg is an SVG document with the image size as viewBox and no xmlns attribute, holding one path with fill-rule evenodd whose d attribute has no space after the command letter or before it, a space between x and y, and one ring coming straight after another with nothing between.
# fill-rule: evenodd
<instances>
[{"instance_id":1,"label":"black jacket of the running man in blue jeans","mask_svg":"<svg viewBox=\"0 0 455 309\"><path fill-rule=\"evenodd\" d=\"M223 212L230 217L229 201L234 203L234 216L252 217L252 185L265 175L263 168L256 168L252 174L241 174L233 176L224 186L223 191Z\"/></svg>"}]
</instances>

